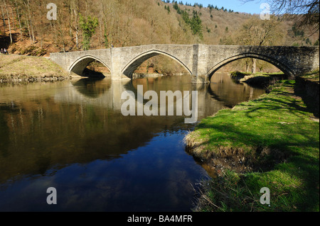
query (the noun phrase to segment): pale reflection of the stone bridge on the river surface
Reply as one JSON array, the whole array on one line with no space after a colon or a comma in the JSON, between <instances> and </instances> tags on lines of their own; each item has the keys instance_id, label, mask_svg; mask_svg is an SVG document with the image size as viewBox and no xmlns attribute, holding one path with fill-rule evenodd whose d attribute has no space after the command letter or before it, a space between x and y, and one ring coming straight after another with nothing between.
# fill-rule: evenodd
<instances>
[{"instance_id":1,"label":"pale reflection of the stone bridge on the river surface","mask_svg":"<svg viewBox=\"0 0 320 226\"><path fill-rule=\"evenodd\" d=\"M126 99L122 99L122 92L124 91L132 91L134 93L134 98L136 100L136 106L139 102L138 96L143 96L144 94L139 94L137 90L137 85L144 86L144 92L146 90L154 90L159 94L160 88L156 86L154 82L156 79L136 79L134 84L132 81L117 81L111 79L79 79L70 82L70 86L67 86L66 89L62 89L60 92L55 94L55 101L62 101L68 103L80 103L80 104L88 104L91 106L98 106L103 108L110 108L113 111L120 111L122 104L127 101ZM228 83L228 84L225 84ZM224 90L223 86L231 86L228 90L228 93L222 93ZM234 87L233 87L234 86ZM172 91L180 90L183 91L198 91L198 113L199 117L205 117L212 113L213 109L220 109L222 107L232 107L236 103L243 101L243 99L252 99L254 95L255 89L247 84L242 84L241 86L233 85L233 82L225 81L220 78L219 81L213 81L208 84L191 84L184 83L181 86L174 87ZM168 86L166 86L168 87ZM166 87L162 87L165 88ZM237 89L243 89L242 95L239 95L239 91ZM224 90L225 91L225 90ZM140 99L143 99L140 97ZM208 99L211 100L208 101ZM146 103L148 100L144 100ZM169 103L176 107L176 102L182 101L180 99L176 100L174 103ZM158 102L159 103L159 102ZM168 103L167 103L168 104ZM168 108L168 106L167 106ZM210 112L210 113L209 113Z\"/></svg>"}]
</instances>

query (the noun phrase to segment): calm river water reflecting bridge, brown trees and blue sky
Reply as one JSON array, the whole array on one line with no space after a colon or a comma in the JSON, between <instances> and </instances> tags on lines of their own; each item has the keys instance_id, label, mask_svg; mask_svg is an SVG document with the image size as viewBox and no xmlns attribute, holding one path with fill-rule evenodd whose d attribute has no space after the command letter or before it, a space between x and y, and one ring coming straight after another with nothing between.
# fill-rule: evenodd
<instances>
[{"instance_id":1,"label":"calm river water reflecting bridge, brown trees and blue sky","mask_svg":"<svg viewBox=\"0 0 320 226\"><path fill-rule=\"evenodd\" d=\"M207 178L185 152L185 116L123 116L124 90L198 90L198 120L265 91L215 74L0 84L1 211L190 211ZM57 190L48 205L47 188Z\"/></svg>"}]
</instances>

